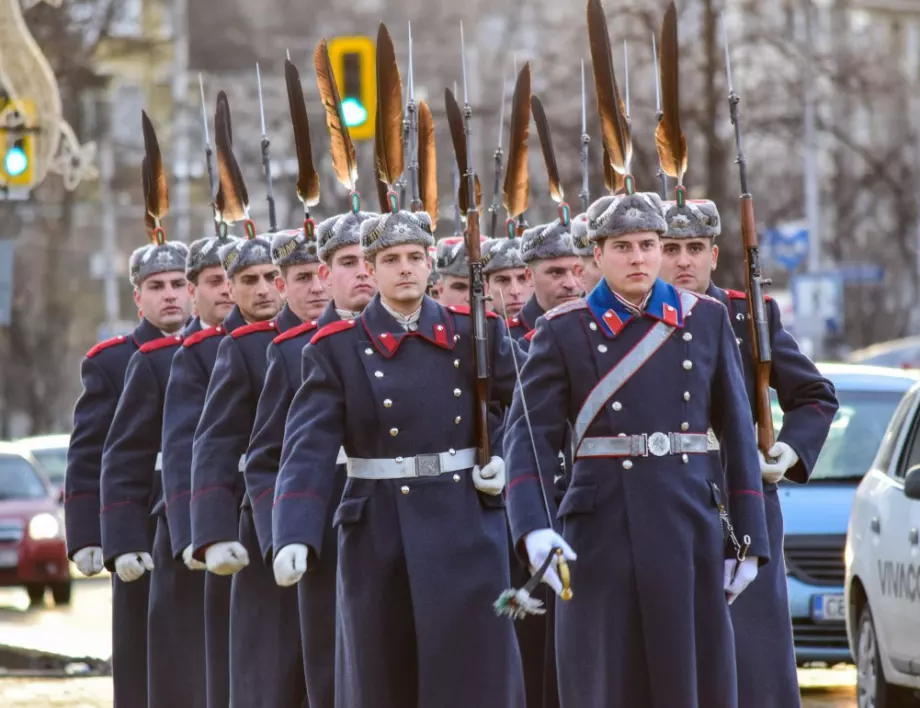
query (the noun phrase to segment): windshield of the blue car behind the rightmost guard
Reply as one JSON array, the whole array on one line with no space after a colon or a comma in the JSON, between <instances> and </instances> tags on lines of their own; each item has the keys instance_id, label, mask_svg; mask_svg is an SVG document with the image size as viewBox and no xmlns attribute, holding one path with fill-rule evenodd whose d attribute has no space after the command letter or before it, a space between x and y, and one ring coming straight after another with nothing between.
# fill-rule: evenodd
<instances>
[{"instance_id":1,"label":"windshield of the blue car behind the rightmost guard","mask_svg":"<svg viewBox=\"0 0 920 708\"><path fill-rule=\"evenodd\" d=\"M783 411L772 394L777 436ZM840 408L831 423L811 481L860 480L872 467L888 422L904 394L898 391L837 391Z\"/></svg>"}]
</instances>

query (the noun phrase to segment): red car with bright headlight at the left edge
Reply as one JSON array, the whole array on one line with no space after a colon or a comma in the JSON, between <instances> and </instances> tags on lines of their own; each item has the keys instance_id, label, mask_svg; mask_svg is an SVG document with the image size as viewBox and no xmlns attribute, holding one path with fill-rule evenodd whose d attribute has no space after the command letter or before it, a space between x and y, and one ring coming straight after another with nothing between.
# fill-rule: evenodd
<instances>
[{"instance_id":1,"label":"red car with bright headlight at the left edge","mask_svg":"<svg viewBox=\"0 0 920 708\"><path fill-rule=\"evenodd\" d=\"M0 587L23 586L33 605L51 588L70 604L70 565L61 506L38 463L15 443L0 443Z\"/></svg>"}]
</instances>

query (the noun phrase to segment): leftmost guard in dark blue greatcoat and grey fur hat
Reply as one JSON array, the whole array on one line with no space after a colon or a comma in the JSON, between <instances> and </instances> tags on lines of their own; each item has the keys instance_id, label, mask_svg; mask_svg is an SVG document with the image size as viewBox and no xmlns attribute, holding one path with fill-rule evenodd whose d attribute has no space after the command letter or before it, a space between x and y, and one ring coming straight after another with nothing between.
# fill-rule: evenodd
<instances>
[{"instance_id":1,"label":"leftmost guard in dark blue greatcoat and grey fur hat","mask_svg":"<svg viewBox=\"0 0 920 708\"><path fill-rule=\"evenodd\" d=\"M164 334L181 330L189 316L184 244L163 239L136 249L128 268L134 302L143 312L129 337L97 344L81 367L83 393L74 408L65 481L65 523L70 557L86 575L102 570L99 513L103 451L133 354ZM116 433L117 434L117 433ZM144 550L149 550L151 534ZM112 581L112 673L116 707L146 705L148 582Z\"/></svg>"}]
</instances>

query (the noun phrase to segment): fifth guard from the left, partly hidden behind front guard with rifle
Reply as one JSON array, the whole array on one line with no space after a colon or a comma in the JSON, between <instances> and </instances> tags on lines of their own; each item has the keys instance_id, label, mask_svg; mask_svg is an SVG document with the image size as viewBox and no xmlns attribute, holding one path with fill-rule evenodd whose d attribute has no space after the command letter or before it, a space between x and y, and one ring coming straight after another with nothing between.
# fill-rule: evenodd
<instances>
[{"instance_id":1,"label":"fifth guard from the left, partly hidden behind front guard with rifle","mask_svg":"<svg viewBox=\"0 0 920 708\"><path fill-rule=\"evenodd\" d=\"M281 462L284 423L302 381L301 352L320 328L357 317L374 296L358 232L361 222L370 216L367 212L348 212L330 217L317 227L318 257L323 264L320 274L329 285L332 301L319 318L278 335L268 347L268 370L246 453L245 477L261 555L269 565L275 480ZM304 262L312 262L312 254L308 255L310 258L304 257ZM327 530L332 528L332 516L345 486L344 459L337 462L332 494L335 503L327 511ZM327 562L297 584L304 676L311 708L335 705L335 534L325 535L322 553Z\"/></svg>"}]
</instances>

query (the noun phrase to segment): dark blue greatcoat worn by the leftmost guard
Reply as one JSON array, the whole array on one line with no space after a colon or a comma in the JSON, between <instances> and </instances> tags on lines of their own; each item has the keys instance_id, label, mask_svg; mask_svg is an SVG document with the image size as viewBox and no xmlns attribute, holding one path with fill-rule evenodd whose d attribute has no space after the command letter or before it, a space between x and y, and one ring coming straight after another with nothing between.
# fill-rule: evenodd
<instances>
[{"instance_id":1,"label":"dark blue greatcoat worn by the leftmost guard","mask_svg":"<svg viewBox=\"0 0 920 708\"><path fill-rule=\"evenodd\" d=\"M80 366L83 393L73 412L67 450L64 522L67 553L102 546L99 522L102 451L131 356L163 333L142 319L130 336L119 336L89 350ZM150 579L123 583L112 576L112 673L116 708L143 708L147 695L147 593Z\"/></svg>"}]
</instances>

